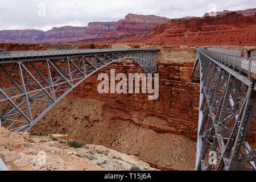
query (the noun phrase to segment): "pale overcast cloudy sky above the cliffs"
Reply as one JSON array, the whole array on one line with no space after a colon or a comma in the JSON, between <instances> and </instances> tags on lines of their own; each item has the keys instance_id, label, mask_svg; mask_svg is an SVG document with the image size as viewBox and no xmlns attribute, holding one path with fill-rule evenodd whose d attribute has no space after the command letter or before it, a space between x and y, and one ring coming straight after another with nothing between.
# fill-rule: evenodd
<instances>
[{"instance_id":1,"label":"pale overcast cloudy sky above the cliffs","mask_svg":"<svg viewBox=\"0 0 256 182\"><path fill-rule=\"evenodd\" d=\"M256 8L256 0L1 0L0 30L87 26L123 19L129 13L181 18L249 8Z\"/></svg>"}]
</instances>

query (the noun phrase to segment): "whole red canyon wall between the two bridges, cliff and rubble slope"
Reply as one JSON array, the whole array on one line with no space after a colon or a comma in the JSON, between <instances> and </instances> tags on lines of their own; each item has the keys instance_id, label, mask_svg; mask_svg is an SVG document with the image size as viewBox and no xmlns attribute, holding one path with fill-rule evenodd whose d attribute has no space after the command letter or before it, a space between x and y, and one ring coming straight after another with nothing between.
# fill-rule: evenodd
<instances>
[{"instance_id":1,"label":"whole red canyon wall between the two bridges, cliff and rubble slope","mask_svg":"<svg viewBox=\"0 0 256 182\"><path fill-rule=\"evenodd\" d=\"M154 101L148 94L99 94L100 73L142 73L132 61L113 63L82 82L32 131L68 134L138 156L158 169L193 170L199 113L199 84L190 82L193 59L191 49L162 49L159 98Z\"/></svg>"}]
</instances>

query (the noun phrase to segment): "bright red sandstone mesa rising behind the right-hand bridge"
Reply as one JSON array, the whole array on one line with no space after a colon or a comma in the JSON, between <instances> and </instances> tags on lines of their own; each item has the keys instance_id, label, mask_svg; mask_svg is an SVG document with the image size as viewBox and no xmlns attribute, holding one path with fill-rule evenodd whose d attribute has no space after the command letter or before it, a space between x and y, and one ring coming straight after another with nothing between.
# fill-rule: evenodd
<instances>
[{"instance_id":1,"label":"bright red sandstone mesa rising behind the right-hand bridge","mask_svg":"<svg viewBox=\"0 0 256 182\"><path fill-rule=\"evenodd\" d=\"M255 45L256 15L228 13L216 17L174 19L148 34L126 35L109 43L147 43L190 46ZM97 41L96 41L97 42Z\"/></svg>"}]
</instances>

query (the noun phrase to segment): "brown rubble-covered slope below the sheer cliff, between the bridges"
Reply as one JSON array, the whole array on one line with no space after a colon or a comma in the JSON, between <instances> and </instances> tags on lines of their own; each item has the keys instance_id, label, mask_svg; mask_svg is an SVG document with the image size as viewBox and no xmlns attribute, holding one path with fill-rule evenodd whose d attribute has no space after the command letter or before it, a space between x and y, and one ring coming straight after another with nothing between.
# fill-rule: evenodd
<instances>
[{"instance_id":1,"label":"brown rubble-covered slope below the sheer cliff, between the bridges","mask_svg":"<svg viewBox=\"0 0 256 182\"><path fill-rule=\"evenodd\" d=\"M129 113L118 110L116 106L110 107L108 102L70 96L57 104L32 131L44 135L65 133L72 140L135 155L158 169L195 169L196 141L149 129L134 120ZM160 118L150 116L141 122L155 122L158 127L161 122L164 125Z\"/></svg>"}]
</instances>

